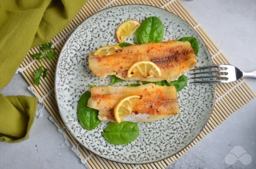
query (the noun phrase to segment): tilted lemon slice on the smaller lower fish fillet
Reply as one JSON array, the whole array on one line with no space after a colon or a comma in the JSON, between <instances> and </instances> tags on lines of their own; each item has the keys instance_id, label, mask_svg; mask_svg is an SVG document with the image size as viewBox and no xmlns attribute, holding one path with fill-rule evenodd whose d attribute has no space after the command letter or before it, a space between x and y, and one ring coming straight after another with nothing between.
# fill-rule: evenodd
<instances>
[{"instance_id":1,"label":"tilted lemon slice on the smaller lower fish fillet","mask_svg":"<svg viewBox=\"0 0 256 169\"><path fill-rule=\"evenodd\" d=\"M114 116L117 123L121 123L123 118L132 113L133 106L141 99L140 95L130 95L123 97L114 107Z\"/></svg>"}]
</instances>

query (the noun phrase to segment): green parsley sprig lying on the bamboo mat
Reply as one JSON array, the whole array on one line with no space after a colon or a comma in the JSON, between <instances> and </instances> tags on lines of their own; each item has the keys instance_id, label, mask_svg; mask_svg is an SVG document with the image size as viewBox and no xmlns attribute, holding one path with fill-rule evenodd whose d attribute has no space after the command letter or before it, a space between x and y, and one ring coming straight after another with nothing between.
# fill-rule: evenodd
<instances>
[{"instance_id":1,"label":"green parsley sprig lying on the bamboo mat","mask_svg":"<svg viewBox=\"0 0 256 169\"><path fill-rule=\"evenodd\" d=\"M46 77L48 69L42 65L41 59L45 57L52 59L53 57L55 57L56 52L54 50L55 48L52 48L52 43L49 42L47 44L42 44L42 46L40 46L39 53L31 55L33 58L36 58L40 63L40 67L36 69L36 71L34 72L34 77L35 77L34 84L39 85L40 77L41 76L43 76L43 78Z\"/></svg>"}]
</instances>

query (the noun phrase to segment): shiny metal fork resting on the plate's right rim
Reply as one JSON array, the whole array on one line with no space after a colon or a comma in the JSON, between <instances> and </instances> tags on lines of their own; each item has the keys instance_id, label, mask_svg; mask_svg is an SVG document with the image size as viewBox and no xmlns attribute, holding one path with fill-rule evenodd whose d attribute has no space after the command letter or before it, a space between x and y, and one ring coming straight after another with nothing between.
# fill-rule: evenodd
<instances>
[{"instance_id":1,"label":"shiny metal fork resting on the plate's right rim","mask_svg":"<svg viewBox=\"0 0 256 169\"><path fill-rule=\"evenodd\" d=\"M232 81L236 81L242 77L254 77L256 78L256 70L251 72L243 72L235 66L232 65L211 65L204 66L195 69L191 69L191 71L202 70L202 69L213 69L211 71L205 72L194 72L190 74L198 75L198 74L211 74L209 76L195 76L191 79L204 79L204 78L218 78L215 80L205 80L205 81L192 81L191 83L229 83ZM222 69L218 69L222 68ZM216 74L218 73L218 74Z\"/></svg>"}]
</instances>

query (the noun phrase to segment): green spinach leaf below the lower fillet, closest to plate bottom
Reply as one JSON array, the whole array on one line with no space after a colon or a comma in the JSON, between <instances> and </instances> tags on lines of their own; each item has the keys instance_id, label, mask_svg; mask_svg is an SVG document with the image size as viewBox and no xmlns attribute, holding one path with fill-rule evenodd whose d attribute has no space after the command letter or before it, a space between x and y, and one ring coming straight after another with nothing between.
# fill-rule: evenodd
<instances>
[{"instance_id":1,"label":"green spinach leaf below the lower fillet, closest to plate bottom","mask_svg":"<svg viewBox=\"0 0 256 169\"><path fill-rule=\"evenodd\" d=\"M134 141L140 133L136 123L109 123L103 130L102 135L111 144L128 144Z\"/></svg>"}]
</instances>

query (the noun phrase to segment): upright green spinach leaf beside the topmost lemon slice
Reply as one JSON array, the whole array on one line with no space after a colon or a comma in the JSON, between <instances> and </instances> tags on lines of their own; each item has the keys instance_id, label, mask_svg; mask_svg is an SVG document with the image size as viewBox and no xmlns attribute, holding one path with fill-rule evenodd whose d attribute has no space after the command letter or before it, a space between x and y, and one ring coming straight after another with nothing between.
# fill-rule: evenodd
<instances>
[{"instance_id":1,"label":"upright green spinach leaf beside the topmost lemon slice","mask_svg":"<svg viewBox=\"0 0 256 169\"><path fill-rule=\"evenodd\" d=\"M155 16L145 19L135 31L136 44L162 42L163 39L164 25L162 21Z\"/></svg>"}]
</instances>

